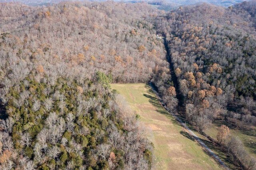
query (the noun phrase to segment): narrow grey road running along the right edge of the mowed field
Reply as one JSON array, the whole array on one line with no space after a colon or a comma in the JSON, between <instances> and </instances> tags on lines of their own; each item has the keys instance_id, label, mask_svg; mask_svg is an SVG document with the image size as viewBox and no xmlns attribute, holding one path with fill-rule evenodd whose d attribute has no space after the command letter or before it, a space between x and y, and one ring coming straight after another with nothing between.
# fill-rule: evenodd
<instances>
[{"instance_id":1,"label":"narrow grey road running along the right edge of the mowed field","mask_svg":"<svg viewBox=\"0 0 256 170\"><path fill-rule=\"evenodd\" d=\"M168 113L170 113L170 115L172 115L176 121L182 126L185 127L185 123L177 117L177 115L175 115L174 113L172 113L164 104L160 94L156 91L156 87L153 85L152 82L149 83L151 89L154 91L154 93L156 94L156 96L158 97L158 100L160 101L161 105L164 107L164 109L166 109L166 111L168 111ZM229 170L229 168L224 164L224 162L216 155L214 154L214 152L212 152L212 150L188 127L186 127L186 130L188 130L188 132L193 136L193 138L205 149L207 150L207 152L210 154L210 156L212 156L216 161L219 162L220 165L223 166L224 169Z\"/></svg>"}]
</instances>

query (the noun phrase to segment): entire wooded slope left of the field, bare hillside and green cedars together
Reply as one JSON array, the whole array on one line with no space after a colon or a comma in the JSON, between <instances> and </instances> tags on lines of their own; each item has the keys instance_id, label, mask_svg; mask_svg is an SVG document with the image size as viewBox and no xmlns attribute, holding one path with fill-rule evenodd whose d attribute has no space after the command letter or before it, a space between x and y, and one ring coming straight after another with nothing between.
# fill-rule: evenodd
<instances>
[{"instance_id":1,"label":"entire wooded slope left of the field, bare hillside and green cedars together","mask_svg":"<svg viewBox=\"0 0 256 170\"><path fill-rule=\"evenodd\" d=\"M149 169L153 146L109 83L166 86L164 45L143 20L154 10L4 3L0 13L0 169Z\"/></svg>"}]
</instances>

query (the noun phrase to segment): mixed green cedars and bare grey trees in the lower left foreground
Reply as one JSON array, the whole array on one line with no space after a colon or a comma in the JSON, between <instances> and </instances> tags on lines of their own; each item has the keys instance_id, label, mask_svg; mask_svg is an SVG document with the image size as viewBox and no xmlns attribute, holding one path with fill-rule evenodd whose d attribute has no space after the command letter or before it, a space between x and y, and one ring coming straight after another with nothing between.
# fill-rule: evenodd
<instances>
[{"instance_id":1,"label":"mixed green cedars and bare grey trees in the lower left foreground","mask_svg":"<svg viewBox=\"0 0 256 170\"><path fill-rule=\"evenodd\" d=\"M2 169L149 168L152 145L113 92L83 76L53 84L38 74L41 81L29 74L7 94Z\"/></svg>"}]
</instances>

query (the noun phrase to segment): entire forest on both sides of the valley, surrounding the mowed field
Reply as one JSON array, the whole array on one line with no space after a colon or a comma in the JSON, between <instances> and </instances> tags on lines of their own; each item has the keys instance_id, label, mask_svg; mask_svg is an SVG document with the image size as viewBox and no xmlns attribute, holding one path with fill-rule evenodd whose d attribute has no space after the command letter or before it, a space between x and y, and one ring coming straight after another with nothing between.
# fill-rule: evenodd
<instances>
[{"instance_id":1,"label":"entire forest on both sides of the valley, surrounding the mowed field","mask_svg":"<svg viewBox=\"0 0 256 170\"><path fill-rule=\"evenodd\" d=\"M0 3L0 169L151 169L154 145L110 83L153 83L205 136L218 120L254 129L255 11L255 0ZM256 168L226 125L215 142Z\"/></svg>"}]
</instances>

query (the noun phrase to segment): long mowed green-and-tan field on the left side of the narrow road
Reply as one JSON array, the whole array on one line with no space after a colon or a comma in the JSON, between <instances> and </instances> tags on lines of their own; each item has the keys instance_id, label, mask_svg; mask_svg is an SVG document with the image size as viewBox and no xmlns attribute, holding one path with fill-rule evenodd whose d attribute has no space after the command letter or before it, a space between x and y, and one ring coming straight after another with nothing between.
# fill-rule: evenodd
<instances>
[{"instance_id":1,"label":"long mowed green-and-tan field on the left side of the narrow road","mask_svg":"<svg viewBox=\"0 0 256 170\"><path fill-rule=\"evenodd\" d=\"M154 143L154 166L159 170L222 169L162 107L146 84L112 84L140 115Z\"/></svg>"}]
</instances>

